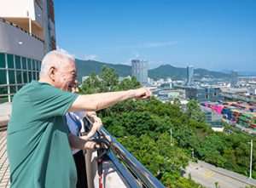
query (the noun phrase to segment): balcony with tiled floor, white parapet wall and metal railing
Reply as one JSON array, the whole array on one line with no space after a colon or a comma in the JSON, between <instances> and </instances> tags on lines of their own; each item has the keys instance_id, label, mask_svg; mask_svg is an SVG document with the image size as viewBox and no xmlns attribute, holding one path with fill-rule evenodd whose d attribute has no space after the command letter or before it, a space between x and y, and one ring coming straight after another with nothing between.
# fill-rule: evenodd
<instances>
[{"instance_id":1,"label":"balcony with tiled floor, white parapet wall and metal railing","mask_svg":"<svg viewBox=\"0 0 256 188\"><path fill-rule=\"evenodd\" d=\"M0 187L9 188L10 180L9 162L6 151L6 130L0 130L0 135ZM107 136L109 136L108 138L110 138L111 141L106 140ZM117 140L108 134L107 130L101 128L97 134L97 138L105 140L105 143L108 145L108 150L103 151L102 156L104 157L102 163L96 160L97 157L101 156L102 151L87 152L85 159L87 172L90 172L90 174L87 174L89 187L99 187L101 167L103 187L165 187L154 175L150 174L148 169L144 168L129 151L126 151Z\"/></svg>"}]
</instances>

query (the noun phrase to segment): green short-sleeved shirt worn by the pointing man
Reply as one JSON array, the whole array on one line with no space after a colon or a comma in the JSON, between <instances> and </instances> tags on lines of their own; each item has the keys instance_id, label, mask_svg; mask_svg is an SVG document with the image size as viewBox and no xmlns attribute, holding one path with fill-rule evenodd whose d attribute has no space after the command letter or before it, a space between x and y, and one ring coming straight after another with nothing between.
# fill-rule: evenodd
<instances>
[{"instance_id":1,"label":"green short-sleeved shirt worn by the pointing man","mask_svg":"<svg viewBox=\"0 0 256 188\"><path fill-rule=\"evenodd\" d=\"M7 131L11 187L76 187L64 116L77 96L38 81L15 94Z\"/></svg>"}]
</instances>

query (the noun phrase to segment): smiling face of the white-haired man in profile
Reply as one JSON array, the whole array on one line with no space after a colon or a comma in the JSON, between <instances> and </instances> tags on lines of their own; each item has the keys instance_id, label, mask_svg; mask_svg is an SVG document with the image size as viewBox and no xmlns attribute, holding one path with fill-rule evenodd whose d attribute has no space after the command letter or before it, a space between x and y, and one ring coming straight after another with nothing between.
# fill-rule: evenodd
<instances>
[{"instance_id":1,"label":"smiling face of the white-haired man in profile","mask_svg":"<svg viewBox=\"0 0 256 188\"><path fill-rule=\"evenodd\" d=\"M68 87L78 83L77 68L73 60L69 60L65 66L57 69L55 74L55 87L61 88L64 91L68 91Z\"/></svg>"}]
</instances>

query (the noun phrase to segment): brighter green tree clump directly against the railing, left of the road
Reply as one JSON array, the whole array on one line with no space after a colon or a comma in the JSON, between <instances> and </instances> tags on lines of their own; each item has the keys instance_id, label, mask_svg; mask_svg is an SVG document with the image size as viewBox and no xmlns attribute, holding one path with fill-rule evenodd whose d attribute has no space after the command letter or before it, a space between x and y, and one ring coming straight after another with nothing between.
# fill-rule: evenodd
<instances>
[{"instance_id":1,"label":"brighter green tree clump directly against the railing, left of the road","mask_svg":"<svg viewBox=\"0 0 256 188\"><path fill-rule=\"evenodd\" d=\"M172 185L174 180L179 179L180 171L189 162L180 148L171 147L167 133L161 134L157 141L142 134L140 137L119 138L119 142L165 185Z\"/></svg>"}]
</instances>

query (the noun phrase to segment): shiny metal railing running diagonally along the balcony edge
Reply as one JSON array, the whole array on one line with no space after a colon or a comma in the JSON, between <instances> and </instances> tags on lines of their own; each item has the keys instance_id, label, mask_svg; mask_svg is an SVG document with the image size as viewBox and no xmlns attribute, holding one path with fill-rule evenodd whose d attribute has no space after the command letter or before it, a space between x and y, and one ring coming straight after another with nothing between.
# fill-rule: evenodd
<instances>
[{"instance_id":1,"label":"shiny metal railing running diagonally along the balcony edge","mask_svg":"<svg viewBox=\"0 0 256 188\"><path fill-rule=\"evenodd\" d=\"M113 162L116 168L118 168L119 173L122 174L127 184L133 187L159 187L164 188L165 186L160 183L159 179L156 179L153 174L151 174L147 168L143 166L141 162L138 162L135 157L131 155L129 151L117 140L113 138L111 134L105 128L99 130L99 134L104 137L109 136L111 141L109 142L110 151L107 155ZM115 155L116 154L116 155ZM116 157L117 156L117 157ZM121 162L125 163L125 165ZM135 174L136 177L133 176ZM139 181L143 184L141 185Z\"/></svg>"}]
</instances>

